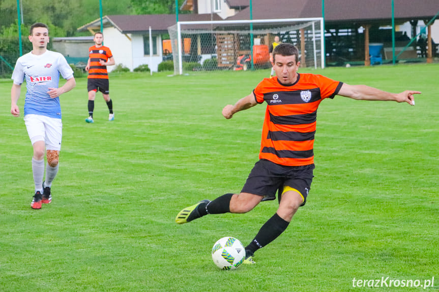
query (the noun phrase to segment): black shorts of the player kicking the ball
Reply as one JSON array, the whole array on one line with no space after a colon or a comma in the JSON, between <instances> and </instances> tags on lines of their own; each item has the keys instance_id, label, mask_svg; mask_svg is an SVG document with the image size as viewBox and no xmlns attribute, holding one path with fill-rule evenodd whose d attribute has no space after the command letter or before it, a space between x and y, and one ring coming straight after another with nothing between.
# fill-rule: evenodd
<instances>
[{"instance_id":1,"label":"black shorts of the player kicking the ball","mask_svg":"<svg viewBox=\"0 0 439 292\"><path fill-rule=\"evenodd\" d=\"M280 202L283 187L289 186L298 190L303 197L303 205L311 188L314 164L306 166L283 166L266 159L260 159L251 170L241 192L264 196L262 201L278 199Z\"/></svg>"}]
</instances>

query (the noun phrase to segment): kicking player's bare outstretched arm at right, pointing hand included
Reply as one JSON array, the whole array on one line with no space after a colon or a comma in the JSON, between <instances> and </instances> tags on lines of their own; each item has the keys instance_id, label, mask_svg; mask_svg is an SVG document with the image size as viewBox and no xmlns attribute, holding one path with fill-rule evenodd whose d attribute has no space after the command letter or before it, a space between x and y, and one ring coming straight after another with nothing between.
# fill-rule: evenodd
<instances>
[{"instance_id":1,"label":"kicking player's bare outstretched arm at right, pointing hand included","mask_svg":"<svg viewBox=\"0 0 439 292\"><path fill-rule=\"evenodd\" d=\"M349 85L343 83L338 91L338 95L345 96L354 100L363 101L395 101L398 103L408 103L415 105L413 94L420 94L421 91L405 90L401 93L390 93L366 85Z\"/></svg>"}]
</instances>

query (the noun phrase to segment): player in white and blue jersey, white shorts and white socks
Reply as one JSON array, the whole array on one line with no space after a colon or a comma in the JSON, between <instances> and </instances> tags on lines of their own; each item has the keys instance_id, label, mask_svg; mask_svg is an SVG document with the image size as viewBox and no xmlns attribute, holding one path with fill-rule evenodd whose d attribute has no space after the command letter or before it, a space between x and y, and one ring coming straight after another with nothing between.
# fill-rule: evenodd
<instances>
[{"instance_id":1,"label":"player in white and blue jersey, white shorts and white socks","mask_svg":"<svg viewBox=\"0 0 439 292\"><path fill-rule=\"evenodd\" d=\"M31 207L41 209L41 204L52 200L50 188L58 172L58 157L61 149L62 129L59 96L76 85L73 70L60 53L47 50L49 28L44 23L31 26L29 41L33 49L17 59L12 79L11 114L20 115L17 101L21 84L26 79L26 98L24 100L24 123L34 148L32 172L35 195ZM58 87L60 74L67 82ZM44 177L44 150L47 166Z\"/></svg>"}]
</instances>

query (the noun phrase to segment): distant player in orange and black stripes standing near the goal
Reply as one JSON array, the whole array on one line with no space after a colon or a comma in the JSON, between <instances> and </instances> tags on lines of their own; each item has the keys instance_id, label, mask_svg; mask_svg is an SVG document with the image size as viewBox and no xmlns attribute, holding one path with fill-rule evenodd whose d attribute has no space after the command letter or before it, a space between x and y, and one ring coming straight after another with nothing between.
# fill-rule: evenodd
<instances>
[{"instance_id":1,"label":"distant player in orange and black stripes standing near the goal","mask_svg":"<svg viewBox=\"0 0 439 292\"><path fill-rule=\"evenodd\" d=\"M114 120L113 102L110 99L107 66L115 64L111 50L103 45L104 35L99 31L93 39L95 45L89 48L89 61L85 70L89 72L87 78L87 91L89 91L89 117L87 123L93 123L96 91L101 91L110 112L108 120Z\"/></svg>"}]
</instances>

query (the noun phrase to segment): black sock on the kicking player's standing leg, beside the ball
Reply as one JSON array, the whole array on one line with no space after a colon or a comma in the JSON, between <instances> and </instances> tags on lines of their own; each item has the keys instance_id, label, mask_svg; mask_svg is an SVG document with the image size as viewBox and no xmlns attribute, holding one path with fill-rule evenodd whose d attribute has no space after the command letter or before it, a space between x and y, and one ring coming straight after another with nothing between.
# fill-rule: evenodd
<instances>
[{"instance_id":1,"label":"black sock on the kicking player's standing leg, beside the ball","mask_svg":"<svg viewBox=\"0 0 439 292\"><path fill-rule=\"evenodd\" d=\"M275 213L259 229L253 241L245 247L246 256L252 256L256 250L275 240L288 227L289 222Z\"/></svg>"}]
</instances>

